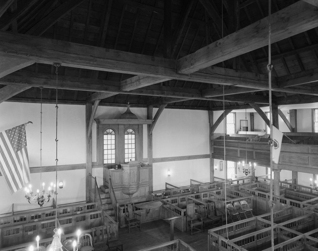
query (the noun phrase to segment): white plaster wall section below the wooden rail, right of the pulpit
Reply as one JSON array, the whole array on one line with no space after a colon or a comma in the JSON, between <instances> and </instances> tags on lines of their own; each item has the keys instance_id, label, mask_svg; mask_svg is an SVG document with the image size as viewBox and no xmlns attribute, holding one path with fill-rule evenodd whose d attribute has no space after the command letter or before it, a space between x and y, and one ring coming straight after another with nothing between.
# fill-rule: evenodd
<instances>
[{"instance_id":1,"label":"white plaster wall section below the wooden rail, right of the pulpit","mask_svg":"<svg viewBox=\"0 0 318 251\"><path fill-rule=\"evenodd\" d=\"M171 176L167 175L168 169ZM210 182L210 160L183 160L153 163L154 191L165 189L165 182L183 187L190 186L190 179Z\"/></svg>"}]
</instances>

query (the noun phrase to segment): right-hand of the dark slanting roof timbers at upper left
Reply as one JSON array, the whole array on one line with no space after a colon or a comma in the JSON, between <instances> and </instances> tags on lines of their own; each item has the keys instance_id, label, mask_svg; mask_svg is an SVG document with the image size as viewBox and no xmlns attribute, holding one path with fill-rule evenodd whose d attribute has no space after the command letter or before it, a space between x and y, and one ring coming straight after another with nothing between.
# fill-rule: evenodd
<instances>
[{"instance_id":1,"label":"right-hand of the dark slanting roof timbers at upper left","mask_svg":"<svg viewBox=\"0 0 318 251\"><path fill-rule=\"evenodd\" d=\"M47 29L49 29L54 23L56 23L61 17L85 0L66 0L64 3L54 9L49 15L42 18L37 24L35 24L26 34L41 36Z\"/></svg>"}]
</instances>

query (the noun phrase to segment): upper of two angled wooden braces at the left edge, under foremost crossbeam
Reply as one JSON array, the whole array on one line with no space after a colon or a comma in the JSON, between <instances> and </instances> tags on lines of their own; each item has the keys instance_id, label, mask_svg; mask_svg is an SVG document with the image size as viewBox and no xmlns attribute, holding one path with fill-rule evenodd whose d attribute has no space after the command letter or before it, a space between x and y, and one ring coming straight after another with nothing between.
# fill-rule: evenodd
<instances>
[{"instance_id":1,"label":"upper of two angled wooden braces at the left edge, under foremost crossbeam","mask_svg":"<svg viewBox=\"0 0 318 251\"><path fill-rule=\"evenodd\" d=\"M1 56L0 59L0 78L12 72L27 67L34 63L34 60L25 58L14 58L9 56Z\"/></svg>"}]
</instances>

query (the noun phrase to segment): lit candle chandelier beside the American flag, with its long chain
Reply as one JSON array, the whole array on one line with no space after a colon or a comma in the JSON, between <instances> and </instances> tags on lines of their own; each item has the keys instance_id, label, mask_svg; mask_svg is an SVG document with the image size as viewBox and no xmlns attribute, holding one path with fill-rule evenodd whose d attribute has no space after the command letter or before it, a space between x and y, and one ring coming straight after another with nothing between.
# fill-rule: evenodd
<instances>
[{"instance_id":1,"label":"lit candle chandelier beside the American flag, with its long chain","mask_svg":"<svg viewBox=\"0 0 318 251\"><path fill-rule=\"evenodd\" d=\"M43 207L45 202L49 202L51 197L57 195L56 185L51 183L51 187L48 188L48 191L45 192L45 183L42 183L42 88L41 90L41 119L40 119L40 189L37 189L36 194L33 195L32 185L29 184L28 187L24 188L25 198L31 204L37 202L40 207ZM42 189L41 189L42 186Z\"/></svg>"}]
</instances>

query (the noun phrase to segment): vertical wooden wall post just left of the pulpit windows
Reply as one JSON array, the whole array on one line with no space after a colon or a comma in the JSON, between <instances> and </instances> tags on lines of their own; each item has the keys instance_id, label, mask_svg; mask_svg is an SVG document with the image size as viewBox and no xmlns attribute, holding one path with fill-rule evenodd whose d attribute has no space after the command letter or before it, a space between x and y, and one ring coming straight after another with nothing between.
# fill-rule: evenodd
<instances>
[{"instance_id":1,"label":"vertical wooden wall post just left of the pulpit windows","mask_svg":"<svg viewBox=\"0 0 318 251\"><path fill-rule=\"evenodd\" d=\"M92 173L92 131L89 132L89 121L92 115L92 103L86 103L85 105L85 118L86 118L86 202L89 201L89 174Z\"/></svg>"}]
</instances>

